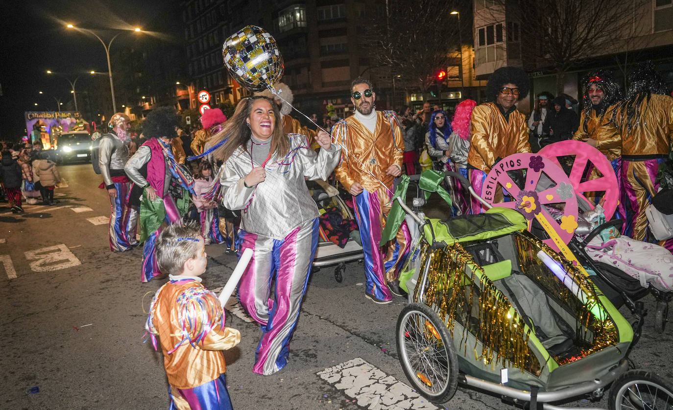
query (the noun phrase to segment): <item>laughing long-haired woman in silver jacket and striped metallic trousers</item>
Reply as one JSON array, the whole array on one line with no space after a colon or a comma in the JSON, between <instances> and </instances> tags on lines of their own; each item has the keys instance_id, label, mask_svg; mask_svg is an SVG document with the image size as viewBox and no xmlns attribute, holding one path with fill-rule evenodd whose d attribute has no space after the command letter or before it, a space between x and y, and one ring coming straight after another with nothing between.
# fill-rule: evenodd
<instances>
[{"instance_id":1,"label":"laughing long-haired woman in silver jacket and striped metallic trousers","mask_svg":"<svg viewBox=\"0 0 673 410\"><path fill-rule=\"evenodd\" d=\"M273 374L287 364L289 340L299 318L318 244L318 207L305 179L327 179L341 147L320 131L316 152L306 136L284 134L276 104L245 98L222 131L213 135L222 205L241 209L238 250L254 251L238 298L262 329L252 371ZM275 284L273 296L271 283Z\"/></svg>"}]
</instances>

